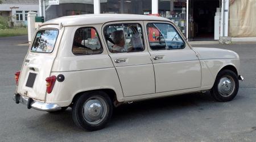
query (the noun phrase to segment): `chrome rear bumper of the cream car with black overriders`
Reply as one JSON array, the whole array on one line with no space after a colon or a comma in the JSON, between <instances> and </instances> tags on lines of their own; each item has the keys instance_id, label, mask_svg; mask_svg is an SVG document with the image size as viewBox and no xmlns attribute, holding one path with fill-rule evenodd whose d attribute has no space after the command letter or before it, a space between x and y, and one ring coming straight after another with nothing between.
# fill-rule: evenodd
<instances>
[{"instance_id":1,"label":"chrome rear bumper of the cream car with black overriders","mask_svg":"<svg viewBox=\"0 0 256 142\"><path fill-rule=\"evenodd\" d=\"M61 110L61 107L54 103L43 103L43 102L34 101L32 98L24 97L19 94L14 94L13 99L16 103L22 103L23 105L27 105L28 109L34 108L35 110L40 110L40 111Z\"/></svg>"}]
</instances>

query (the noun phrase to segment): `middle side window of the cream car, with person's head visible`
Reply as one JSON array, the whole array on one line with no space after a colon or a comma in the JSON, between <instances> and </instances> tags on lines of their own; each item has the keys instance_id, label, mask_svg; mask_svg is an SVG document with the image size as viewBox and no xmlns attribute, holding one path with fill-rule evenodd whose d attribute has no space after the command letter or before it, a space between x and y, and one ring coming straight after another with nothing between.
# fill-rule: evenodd
<instances>
[{"instance_id":1,"label":"middle side window of the cream car, with person's head visible","mask_svg":"<svg viewBox=\"0 0 256 142\"><path fill-rule=\"evenodd\" d=\"M144 51L140 24L111 24L104 28L104 35L112 53Z\"/></svg>"}]
</instances>

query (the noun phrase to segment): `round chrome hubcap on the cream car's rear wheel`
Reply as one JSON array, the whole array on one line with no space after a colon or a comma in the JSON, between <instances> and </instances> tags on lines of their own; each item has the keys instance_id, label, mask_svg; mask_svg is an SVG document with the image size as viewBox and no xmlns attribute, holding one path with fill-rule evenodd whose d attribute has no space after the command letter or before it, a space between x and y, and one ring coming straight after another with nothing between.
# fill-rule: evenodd
<instances>
[{"instance_id":1,"label":"round chrome hubcap on the cream car's rear wheel","mask_svg":"<svg viewBox=\"0 0 256 142\"><path fill-rule=\"evenodd\" d=\"M86 122L98 124L106 115L106 103L100 97L89 98L84 103L82 115Z\"/></svg>"}]
</instances>

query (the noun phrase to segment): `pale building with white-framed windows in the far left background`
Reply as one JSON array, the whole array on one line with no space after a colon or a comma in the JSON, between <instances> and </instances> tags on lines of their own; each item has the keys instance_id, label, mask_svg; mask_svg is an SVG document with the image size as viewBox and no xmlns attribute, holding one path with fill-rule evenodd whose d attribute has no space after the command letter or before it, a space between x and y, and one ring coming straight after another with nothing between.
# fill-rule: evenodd
<instances>
[{"instance_id":1,"label":"pale building with white-framed windows in the far left background","mask_svg":"<svg viewBox=\"0 0 256 142\"><path fill-rule=\"evenodd\" d=\"M1 0L0 15L12 17L14 26L27 25L27 13L39 11L38 0Z\"/></svg>"}]
</instances>

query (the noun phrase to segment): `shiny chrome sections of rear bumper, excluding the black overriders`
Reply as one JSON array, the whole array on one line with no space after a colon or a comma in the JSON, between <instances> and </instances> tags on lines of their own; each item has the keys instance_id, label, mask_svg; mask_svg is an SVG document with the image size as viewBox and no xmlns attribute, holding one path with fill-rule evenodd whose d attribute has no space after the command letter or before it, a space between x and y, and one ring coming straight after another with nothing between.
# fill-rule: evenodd
<instances>
[{"instance_id":1,"label":"shiny chrome sections of rear bumper, excluding the black overriders","mask_svg":"<svg viewBox=\"0 0 256 142\"><path fill-rule=\"evenodd\" d=\"M15 101L15 95L13 97ZM22 103L23 105L27 106L28 98L25 98L24 96L20 95L19 97L19 103ZM54 103L43 103L38 101L33 101L31 103L31 108L34 108L35 110L39 111L57 111L61 110L61 107L59 105L56 105Z\"/></svg>"}]
</instances>

